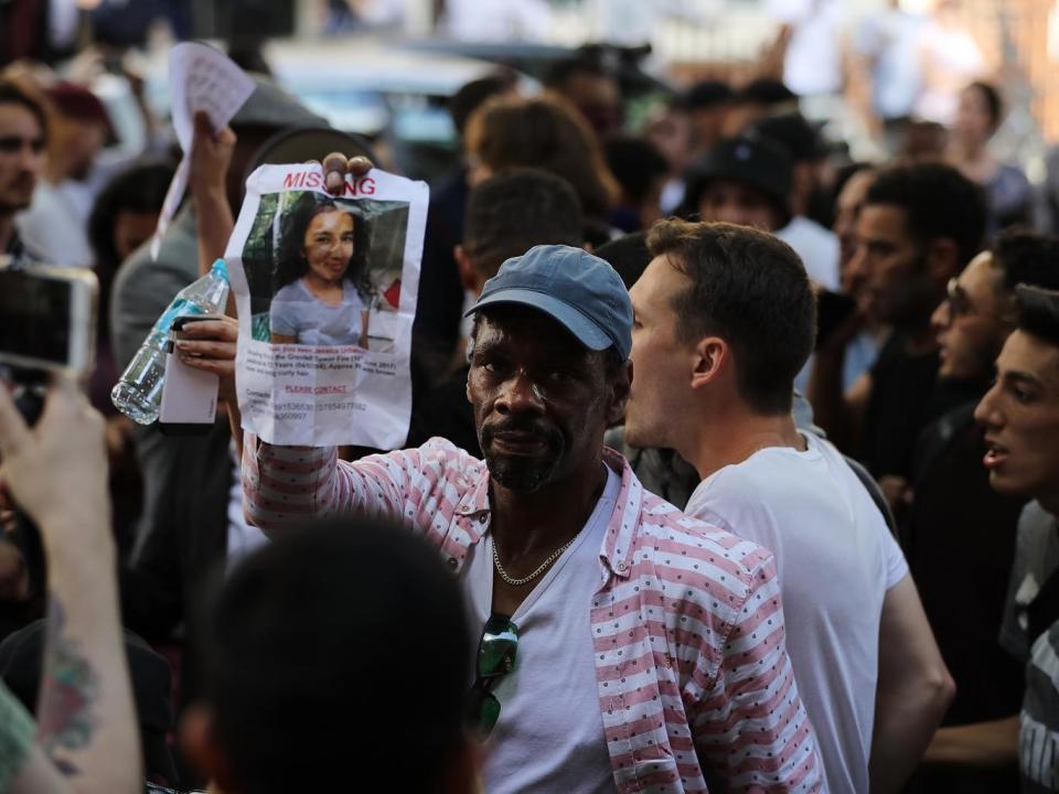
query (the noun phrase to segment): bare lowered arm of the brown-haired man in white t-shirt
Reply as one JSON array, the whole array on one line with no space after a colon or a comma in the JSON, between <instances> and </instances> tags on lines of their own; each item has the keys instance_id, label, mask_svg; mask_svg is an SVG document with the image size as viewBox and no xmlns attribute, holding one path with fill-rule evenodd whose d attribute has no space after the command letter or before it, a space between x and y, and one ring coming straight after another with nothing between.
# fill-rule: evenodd
<instances>
[{"instance_id":1,"label":"bare lowered arm of the brown-haired man in white t-shirt","mask_svg":"<svg viewBox=\"0 0 1059 794\"><path fill-rule=\"evenodd\" d=\"M873 792L900 791L955 693L916 584L911 576L906 576L882 601L879 682L868 764Z\"/></svg>"}]
</instances>

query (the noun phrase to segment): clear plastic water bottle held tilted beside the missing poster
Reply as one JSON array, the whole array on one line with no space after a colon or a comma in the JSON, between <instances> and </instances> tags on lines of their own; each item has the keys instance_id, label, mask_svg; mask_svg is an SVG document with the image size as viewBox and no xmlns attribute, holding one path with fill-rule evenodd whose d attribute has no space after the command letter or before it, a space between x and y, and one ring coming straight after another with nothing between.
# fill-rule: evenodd
<instances>
[{"instance_id":1,"label":"clear plastic water bottle held tilted beside the missing poster","mask_svg":"<svg viewBox=\"0 0 1059 794\"><path fill-rule=\"evenodd\" d=\"M154 323L110 391L114 407L140 425L158 419L165 374L165 343L173 320L186 314L223 314L227 302L228 269L224 259L217 259L210 272L176 293Z\"/></svg>"}]
</instances>

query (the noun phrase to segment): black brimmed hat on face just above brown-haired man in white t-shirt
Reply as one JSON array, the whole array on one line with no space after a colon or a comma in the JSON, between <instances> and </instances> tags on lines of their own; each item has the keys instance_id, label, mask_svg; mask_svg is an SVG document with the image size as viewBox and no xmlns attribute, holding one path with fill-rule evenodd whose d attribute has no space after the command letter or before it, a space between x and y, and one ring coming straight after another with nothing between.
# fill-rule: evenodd
<instances>
[{"instance_id":1,"label":"black brimmed hat on face just above brown-haired man in white t-shirt","mask_svg":"<svg viewBox=\"0 0 1059 794\"><path fill-rule=\"evenodd\" d=\"M715 180L731 180L762 193L783 218L790 217L791 159L770 140L740 136L717 143L695 163L687 176L684 211L698 212L698 200Z\"/></svg>"}]
</instances>

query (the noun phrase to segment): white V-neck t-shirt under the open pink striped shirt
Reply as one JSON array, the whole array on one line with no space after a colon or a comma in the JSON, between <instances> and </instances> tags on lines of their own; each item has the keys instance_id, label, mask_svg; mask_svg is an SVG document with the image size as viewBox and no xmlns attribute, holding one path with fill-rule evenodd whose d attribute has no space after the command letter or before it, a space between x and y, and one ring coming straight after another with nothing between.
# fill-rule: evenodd
<instances>
[{"instance_id":1,"label":"white V-neck t-shirt under the open pink striped shirt","mask_svg":"<svg viewBox=\"0 0 1059 794\"><path fill-rule=\"evenodd\" d=\"M485 744L484 794L617 792L599 711L589 603L605 581L599 550L620 487L608 468L603 495L580 536L511 616L518 650L514 670L491 690L500 719ZM477 653L492 611L492 534L471 549L462 583Z\"/></svg>"}]
</instances>

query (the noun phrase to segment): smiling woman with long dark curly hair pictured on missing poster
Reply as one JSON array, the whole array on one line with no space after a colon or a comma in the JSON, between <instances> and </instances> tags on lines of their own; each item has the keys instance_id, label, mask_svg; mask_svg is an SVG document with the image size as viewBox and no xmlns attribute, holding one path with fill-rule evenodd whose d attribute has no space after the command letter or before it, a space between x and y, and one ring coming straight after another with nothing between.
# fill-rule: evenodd
<instances>
[{"instance_id":1,"label":"smiling woman with long dark curly hair pictured on missing poster","mask_svg":"<svg viewBox=\"0 0 1059 794\"><path fill-rule=\"evenodd\" d=\"M367 347L370 299L353 257L355 228L353 214L330 201L306 202L284 217L274 343Z\"/></svg>"}]
</instances>

